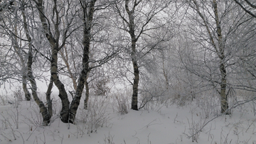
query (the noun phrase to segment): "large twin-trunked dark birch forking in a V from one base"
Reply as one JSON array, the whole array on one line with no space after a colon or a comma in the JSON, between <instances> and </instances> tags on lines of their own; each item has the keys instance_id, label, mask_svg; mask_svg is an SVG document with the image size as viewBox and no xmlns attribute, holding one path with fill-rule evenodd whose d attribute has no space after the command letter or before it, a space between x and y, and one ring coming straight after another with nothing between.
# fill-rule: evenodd
<instances>
[{"instance_id":1,"label":"large twin-trunked dark birch forking in a V from one base","mask_svg":"<svg viewBox=\"0 0 256 144\"><path fill-rule=\"evenodd\" d=\"M97 0L92 1L34 1L36 3L36 8L38 9L38 16L41 20L41 28L45 34L48 43L50 43L51 50L51 64L50 64L50 74L51 79L55 86L58 88L59 97L62 101L62 109L60 111L60 119L64 123L75 123L75 115L80 104L80 99L82 96L82 91L85 87L87 76L92 68L100 67L105 62L111 59L112 55L115 54L111 49L105 50L105 53L98 55L101 58L95 60L90 59L90 47L92 42L92 26L94 13L97 10L105 9L105 4ZM44 3L43 3L44 2ZM50 10L50 12L48 11ZM80 19L82 23L80 23ZM100 21L99 21L100 22ZM78 43L82 43L82 60L79 61L81 64L80 72L78 74L78 81L75 88L75 96L73 100L68 100L68 94L63 82L61 82L58 75L58 54L63 55L64 52L61 51L67 45L70 40L70 36L78 36L80 33L80 28L82 28L82 40L78 38ZM71 45L72 46L72 45ZM106 47L106 46L105 46ZM66 49L64 49L65 51ZM70 49L74 50L74 49ZM63 52L63 54L61 54ZM65 55L64 55L65 56ZM65 61L65 60L64 60ZM68 62L66 60L66 62ZM90 62L99 62L99 65L93 65L90 67ZM71 74L71 72L70 72ZM75 80L75 79L73 79ZM75 82L74 82L75 84Z\"/></svg>"}]
</instances>

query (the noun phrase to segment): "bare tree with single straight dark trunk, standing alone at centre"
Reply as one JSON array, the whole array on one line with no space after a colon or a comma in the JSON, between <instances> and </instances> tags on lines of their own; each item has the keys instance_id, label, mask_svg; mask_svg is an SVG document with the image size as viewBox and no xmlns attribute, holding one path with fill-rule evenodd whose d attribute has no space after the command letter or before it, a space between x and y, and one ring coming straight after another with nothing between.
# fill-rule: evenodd
<instances>
[{"instance_id":1,"label":"bare tree with single straight dark trunk, standing alone at centre","mask_svg":"<svg viewBox=\"0 0 256 144\"><path fill-rule=\"evenodd\" d=\"M139 58L143 57L155 48L159 41L145 47L139 46L142 35L147 35L150 38L150 31L159 28L152 22L155 21L159 13L164 11L170 4L170 1L144 1L144 0L125 0L115 4L114 11L117 13L122 23L115 22L117 28L129 34L130 58L132 60L132 73L134 79L132 82L132 109L138 110L138 92L139 92ZM160 22L160 21L159 21ZM161 26L160 26L161 27ZM124 38L126 39L126 38ZM160 40L161 41L161 40ZM143 43L143 42L142 42Z\"/></svg>"}]
</instances>

